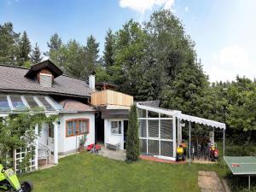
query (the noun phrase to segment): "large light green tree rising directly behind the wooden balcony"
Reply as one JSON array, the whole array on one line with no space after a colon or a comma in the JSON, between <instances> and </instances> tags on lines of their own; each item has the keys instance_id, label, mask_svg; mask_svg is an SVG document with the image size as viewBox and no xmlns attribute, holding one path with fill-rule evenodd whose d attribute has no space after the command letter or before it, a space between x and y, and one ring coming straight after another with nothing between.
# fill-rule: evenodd
<instances>
[{"instance_id":1,"label":"large light green tree rising directly behind the wooden balcony","mask_svg":"<svg viewBox=\"0 0 256 192\"><path fill-rule=\"evenodd\" d=\"M137 96L137 82L145 73L142 65L146 55L146 37L142 26L129 20L116 33L114 66L109 68L112 83L119 85L119 91Z\"/></svg>"}]
</instances>

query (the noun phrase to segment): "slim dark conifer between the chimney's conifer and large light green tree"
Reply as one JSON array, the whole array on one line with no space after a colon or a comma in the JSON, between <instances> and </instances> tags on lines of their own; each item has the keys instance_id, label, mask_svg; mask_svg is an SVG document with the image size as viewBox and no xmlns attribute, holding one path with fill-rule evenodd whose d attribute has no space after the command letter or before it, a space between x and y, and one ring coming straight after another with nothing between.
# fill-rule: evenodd
<instances>
[{"instance_id":1,"label":"slim dark conifer between the chimney's conifer and large light green tree","mask_svg":"<svg viewBox=\"0 0 256 192\"><path fill-rule=\"evenodd\" d=\"M103 51L104 66L108 69L113 66L113 56L114 56L114 36L111 29L108 30L107 36L105 38L105 49Z\"/></svg>"}]
</instances>

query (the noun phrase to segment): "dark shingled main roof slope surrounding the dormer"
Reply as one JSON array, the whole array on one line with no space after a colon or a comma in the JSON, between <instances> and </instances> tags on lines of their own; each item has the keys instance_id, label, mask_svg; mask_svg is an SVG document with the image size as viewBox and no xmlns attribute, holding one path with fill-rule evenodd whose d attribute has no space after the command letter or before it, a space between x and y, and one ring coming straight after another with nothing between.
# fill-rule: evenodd
<instances>
[{"instance_id":1,"label":"dark shingled main roof slope surrounding the dormer","mask_svg":"<svg viewBox=\"0 0 256 192\"><path fill-rule=\"evenodd\" d=\"M0 65L0 91L79 97L89 97L92 92L84 80L65 75L56 78L52 87L45 88L35 80L26 78L25 75L28 71L28 69L22 67Z\"/></svg>"}]
</instances>

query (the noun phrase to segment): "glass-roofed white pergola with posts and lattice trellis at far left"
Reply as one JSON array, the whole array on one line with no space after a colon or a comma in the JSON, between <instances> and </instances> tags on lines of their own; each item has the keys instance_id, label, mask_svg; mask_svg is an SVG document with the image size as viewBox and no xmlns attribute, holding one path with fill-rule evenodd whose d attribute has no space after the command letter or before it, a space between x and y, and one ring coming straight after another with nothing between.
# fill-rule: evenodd
<instances>
[{"instance_id":1,"label":"glass-roofed white pergola with posts and lattice trellis at far left","mask_svg":"<svg viewBox=\"0 0 256 192\"><path fill-rule=\"evenodd\" d=\"M38 113L45 113L45 115L54 115L58 114L60 111L63 111L60 104L55 102L49 96L33 96L33 95L1 95L0 96L0 117L5 118L9 114L14 113L22 113L26 110L33 109L33 108L40 108L42 111L38 110ZM54 161L55 163L58 162L58 122L53 122L53 131L56 133L54 134ZM26 131L25 136L28 132ZM38 125L35 127L35 133L38 135ZM20 137L23 139L24 137ZM32 154L32 159L30 160L30 166L26 167L26 172L34 171L38 169L38 159L40 159L41 155L45 155L45 153L49 153L49 148L47 146L38 145L38 139L34 141L28 148L16 148L14 151L14 167L15 172L21 172L19 170L19 164L26 156L27 153Z\"/></svg>"}]
</instances>

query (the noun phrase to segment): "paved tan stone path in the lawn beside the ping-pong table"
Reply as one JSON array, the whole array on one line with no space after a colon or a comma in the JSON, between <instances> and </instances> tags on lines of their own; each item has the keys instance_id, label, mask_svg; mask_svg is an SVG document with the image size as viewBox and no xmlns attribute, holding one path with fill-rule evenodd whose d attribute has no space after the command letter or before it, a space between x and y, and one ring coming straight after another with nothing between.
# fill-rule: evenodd
<instances>
[{"instance_id":1,"label":"paved tan stone path in the lawn beside the ping-pong table","mask_svg":"<svg viewBox=\"0 0 256 192\"><path fill-rule=\"evenodd\" d=\"M201 192L230 192L224 187L216 172L198 172L198 185Z\"/></svg>"}]
</instances>

